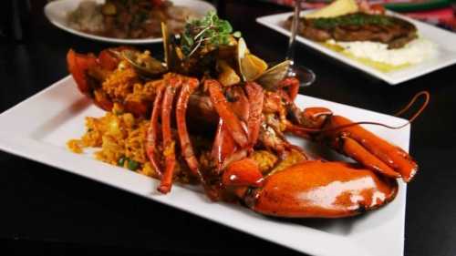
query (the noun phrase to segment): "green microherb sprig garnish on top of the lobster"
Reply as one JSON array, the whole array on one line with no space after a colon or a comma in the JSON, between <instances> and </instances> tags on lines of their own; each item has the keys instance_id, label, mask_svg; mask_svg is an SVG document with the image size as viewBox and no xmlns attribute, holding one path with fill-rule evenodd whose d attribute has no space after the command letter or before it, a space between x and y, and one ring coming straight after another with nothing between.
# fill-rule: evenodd
<instances>
[{"instance_id":1,"label":"green microherb sprig garnish on top of the lobster","mask_svg":"<svg viewBox=\"0 0 456 256\"><path fill-rule=\"evenodd\" d=\"M187 22L181 35L181 50L186 57L189 57L205 46L229 45L230 36L240 37L241 33L233 33L231 24L211 11L202 19Z\"/></svg>"}]
</instances>

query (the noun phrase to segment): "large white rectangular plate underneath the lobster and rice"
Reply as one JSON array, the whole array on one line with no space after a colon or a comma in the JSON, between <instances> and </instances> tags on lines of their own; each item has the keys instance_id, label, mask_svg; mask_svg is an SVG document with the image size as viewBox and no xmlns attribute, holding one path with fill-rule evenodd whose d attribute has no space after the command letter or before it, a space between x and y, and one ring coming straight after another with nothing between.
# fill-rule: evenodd
<instances>
[{"instance_id":1,"label":"large white rectangular plate underneath the lobster and rice","mask_svg":"<svg viewBox=\"0 0 456 256\"><path fill-rule=\"evenodd\" d=\"M325 106L357 121L378 121L392 126L404 119L353 108L315 97L299 96L300 107ZM93 159L66 148L69 138L84 133L84 118L99 117L103 111L82 96L72 77L66 77L34 97L0 114L0 149L57 169L124 189L144 198L191 212L202 218L242 230L296 251L313 255L399 256L403 253L406 186L386 207L345 220L277 221L244 207L214 203L202 193L174 185L169 195L156 192L158 181ZM409 126L387 129L369 126L378 136L409 149ZM296 145L309 148L302 139ZM15 180L20 182L20 180ZM178 227L175 227L176 231ZM241 246L242 247L242 246Z\"/></svg>"}]
</instances>

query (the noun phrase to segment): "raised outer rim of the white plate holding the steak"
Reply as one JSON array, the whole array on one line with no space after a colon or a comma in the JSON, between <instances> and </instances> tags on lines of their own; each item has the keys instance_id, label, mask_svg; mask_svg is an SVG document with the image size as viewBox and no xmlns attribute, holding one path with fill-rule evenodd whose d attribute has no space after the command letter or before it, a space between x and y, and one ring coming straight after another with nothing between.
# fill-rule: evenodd
<instances>
[{"instance_id":1,"label":"raised outer rim of the white plate holding the steak","mask_svg":"<svg viewBox=\"0 0 456 256\"><path fill-rule=\"evenodd\" d=\"M301 15L305 15L306 13L309 13L309 12L312 12L312 11L315 11L315 10L302 11ZM409 17L404 16L404 15L400 15L400 14L392 12L392 11L387 11L387 14L398 16L399 18L402 18L404 20L409 21L410 23L414 24L415 26L424 26L426 28L439 31L440 33L443 32L443 33L447 34L448 36L456 36L456 34L452 34L451 32L446 31L446 30L444 30L444 29L442 29L440 27L431 26L431 25L426 24L424 22L409 18ZM282 26L277 26L275 23L273 23L271 21L272 19L275 20L276 18L279 18L281 16L287 16L287 15L293 15L293 12L286 12L286 13L279 13L279 14L274 14L274 15L259 16L259 17L256 18L256 22L259 23L262 26L266 26L266 27L274 30L275 32L278 32L279 34L282 34L284 36L290 36L291 33L287 29L285 29ZM358 69L359 71L361 71L361 72L363 72L365 74L368 74L371 77L377 77L378 79L387 82L391 86L399 85L399 84L404 83L406 81L409 81L411 79L414 79L414 78L417 78L417 77L421 77L421 76L427 75L427 74L429 74L431 72L437 71L437 70L439 70L439 69L441 69L443 67L450 67L451 65L456 64L456 52L454 52L455 56L453 58L451 58L449 60L446 60L446 61L440 61L439 63L437 63L433 67L429 67L429 68L427 68L425 70L422 70L420 72L415 72L413 74L408 74L408 75L402 76L402 77L391 77L391 76L389 76L389 73L381 72L381 71L377 70L374 67L368 67L367 65L364 65L364 64L358 62L355 59L351 59L351 58L349 58L347 56L341 55L341 54L337 53L336 51L328 49L325 46L321 46L318 43L316 43L314 41L311 41L309 39L306 39L303 36L297 35L296 36L296 41L301 43L301 44L303 44L303 45L306 45L306 46L312 48L313 50L316 50L316 51L320 52L321 54L323 54L325 56L330 56L330 57L332 57L334 59L337 59L337 61L339 61L339 62L341 62L341 63L343 63L343 64L345 64L345 65L347 65L349 67L354 67L354 68ZM432 41L432 42L437 44L435 41ZM412 67L409 67L409 68L412 68ZM398 70L398 72L401 72L401 71L404 71L404 69Z\"/></svg>"}]
</instances>

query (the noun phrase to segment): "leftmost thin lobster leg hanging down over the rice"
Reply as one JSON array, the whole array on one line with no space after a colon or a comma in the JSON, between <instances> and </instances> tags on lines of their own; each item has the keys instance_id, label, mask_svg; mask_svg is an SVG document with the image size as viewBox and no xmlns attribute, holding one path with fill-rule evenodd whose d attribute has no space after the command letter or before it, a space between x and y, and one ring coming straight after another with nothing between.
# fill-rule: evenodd
<instances>
[{"instance_id":1,"label":"leftmost thin lobster leg hanging down over the rice","mask_svg":"<svg viewBox=\"0 0 456 256\"><path fill-rule=\"evenodd\" d=\"M165 85L161 82L161 85L157 88L157 95L153 102L152 115L150 116L150 126L147 130L146 138L146 153L150 160L152 167L162 176L160 164L155 159L155 151L157 148L157 131L159 130L159 115L161 112L161 98L163 97L163 90Z\"/></svg>"}]
</instances>

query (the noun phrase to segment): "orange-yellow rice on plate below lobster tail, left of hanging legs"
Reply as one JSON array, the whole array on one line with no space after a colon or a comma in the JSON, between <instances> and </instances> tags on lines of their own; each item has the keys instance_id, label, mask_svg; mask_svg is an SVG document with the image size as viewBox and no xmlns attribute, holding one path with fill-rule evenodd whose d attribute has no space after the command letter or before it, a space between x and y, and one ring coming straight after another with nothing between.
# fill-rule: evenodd
<instances>
[{"instance_id":1,"label":"orange-yellow rice on plate below lobster tail, left of hanging legs","mask_svg":"<svg viewBox=\"0 0 456 256\"><path fill-rule=\"evenodd\" d=\"M146 154L149 124L149 120L123 113L123 109L115 104L104 117L86 118L86 133L79 139L70 139L67 148L75 153L83 153L84 148L99 148L94 154L96 159L158 178ZM157 151L162 151L160 146ZM178 162L175 177L188 182L188 172L182 171L181 166Z\"/></svg>"}]
</instances>

